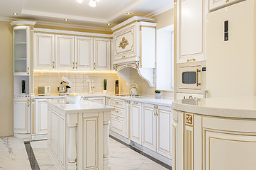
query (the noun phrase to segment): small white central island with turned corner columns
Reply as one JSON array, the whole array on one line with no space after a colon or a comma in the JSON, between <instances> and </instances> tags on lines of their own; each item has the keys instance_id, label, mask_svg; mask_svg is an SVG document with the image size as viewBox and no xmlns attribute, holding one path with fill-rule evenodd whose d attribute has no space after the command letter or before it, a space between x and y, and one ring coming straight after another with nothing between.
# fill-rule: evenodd
<instances>
[{"instance_id":1,"label":"small white central island with turned corner columns","mask_svg":"<svg viewBox=\"0 0 256 170\"><path fill-rule=\"evenodd\" d=\"M60 169L111 169L108 128L115 108L90 101L48 103L48 148Z\"/></svg>"}]
</instances>

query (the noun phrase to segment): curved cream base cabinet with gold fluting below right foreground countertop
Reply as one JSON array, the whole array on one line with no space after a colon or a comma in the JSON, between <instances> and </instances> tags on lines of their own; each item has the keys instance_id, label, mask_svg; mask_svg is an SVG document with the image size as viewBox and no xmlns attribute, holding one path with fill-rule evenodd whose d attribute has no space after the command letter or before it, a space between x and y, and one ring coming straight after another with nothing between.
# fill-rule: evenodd
<instances>
[{"instance_id":1,"label":"curved cream base cabinet with gold fluting below right foreground countertop","mask_svg":"<svg viewBox=\"0 0 256 170\"><path fill-rule=\"evenodd\" d=\"M255 120L173 113L173 169L255 169Z\"/></svg>"}]
</instances>

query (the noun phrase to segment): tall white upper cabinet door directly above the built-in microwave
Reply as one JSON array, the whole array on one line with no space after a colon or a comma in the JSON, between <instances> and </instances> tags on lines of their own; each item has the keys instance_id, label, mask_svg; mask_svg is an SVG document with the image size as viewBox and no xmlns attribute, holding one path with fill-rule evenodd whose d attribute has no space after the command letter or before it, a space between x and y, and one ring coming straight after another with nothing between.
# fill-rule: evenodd
<instances>
[{"instance_id":1,"label":"tall white upper cabinet door directly above the built-in microwave","mask_svg":"<svg viewBox=\"0 0 256 170\"><path fill-rule=\"evenodd\" d=\"M177 62L205 60L205 1L177 1Z\"/></svg>"}]
</instances>

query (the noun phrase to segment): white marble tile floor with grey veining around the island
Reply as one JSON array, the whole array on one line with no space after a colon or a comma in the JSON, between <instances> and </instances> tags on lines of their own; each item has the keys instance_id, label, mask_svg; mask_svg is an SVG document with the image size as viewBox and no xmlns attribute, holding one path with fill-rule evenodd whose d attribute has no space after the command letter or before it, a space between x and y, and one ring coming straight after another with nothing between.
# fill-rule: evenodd
<instances>
[{"instance_id":1,"label":"white marble tile floor with grey veining around the island","mask_svg":"<svg viewBox=\"0 0 256 170\"><path fill-rule=\"evenodd\" d=\"M143 156L127 145L109 139L111 170L166 170L162 166ZM28 150L28 154L26 152ZM35 157L33 157L33 154ZM30 166L32 160L32 166ZM35 159L33 159L35 158ZM0 170L1 169L31 169L32 170L59 170L50 159L47 152L47 140L24 142L14 137L0 137Z\"/></svg>"}]
</instances>

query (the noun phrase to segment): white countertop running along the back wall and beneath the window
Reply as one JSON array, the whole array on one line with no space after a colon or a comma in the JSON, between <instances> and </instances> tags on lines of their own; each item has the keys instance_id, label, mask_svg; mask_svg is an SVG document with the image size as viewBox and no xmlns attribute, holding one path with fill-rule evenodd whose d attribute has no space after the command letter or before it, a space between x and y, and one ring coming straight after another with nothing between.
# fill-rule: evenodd
<instances>
[{"instance_id":1,"label":"white countertop running along the back wall and beneath the window","mask_svg":"<svg viewBox=\"0 0 256 170\"><path fill-rule=\"evenodd\" d=\"M141 103L150 103L156 104L160 106L172 107L173 98L161 98L156 99L151 96L138 96L138 97L130 97L130 96L116 96L114 94L79 94L82 97L110 97L110 98L119 98L127 101L136 101ZM65 98L65 96L58 96L58 94L51 94L50 96L32 96L31 98L35 99L47 99L47 98Z\"/></svg>"}]
</instances>

